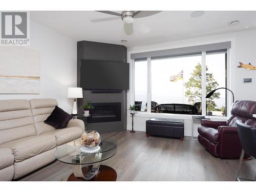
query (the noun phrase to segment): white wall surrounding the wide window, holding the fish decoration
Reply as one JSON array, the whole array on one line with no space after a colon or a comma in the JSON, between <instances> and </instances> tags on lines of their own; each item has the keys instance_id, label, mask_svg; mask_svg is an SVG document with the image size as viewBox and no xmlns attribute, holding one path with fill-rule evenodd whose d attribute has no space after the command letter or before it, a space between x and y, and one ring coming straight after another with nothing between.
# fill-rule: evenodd
<instances>
[{"instance_id":1,"label":"white wall surrounding the wide window, holding the fish decoration","mask_svg":"<svg viewBox=\"0 0 256 192\"><path fill-rule=\"evenodd\" d=\"M247 71L243 68L238 68L239 61L243 63L250 62L252 65L256 66L256 30L247 30L234 33L226 33L214 36L205 36L193 39L184 39L179 41L164 42L162 44L155 44L150 46L138 46L130 47L127 49L127 59L130 62L130 54L154 51L162 49L172 49L179 47L196 46L203 44L211 44L215 42L231 41L230 49L230 78L229 78L229 88L234 93L235 100L254 100L256 101L256 71ZM252 83L244 84L242 82L243 78L252 78ZM127 105L131 103L131 89L127 93ZM145 121L154 114L136 114L134 119L134 129L138 131L145 131ZM185 135L191 135L191 116L187 115L160 115L158 117L163 118L178 118L185 119ZM217 119L217 118L216 118ZM221 118L218 118L221 119ZM127 115L127 129L131 129L131 116ZM195 130L196 131L196 130ZM196 132L195 132L196 134Z\"/></svg>"}]
</instances>

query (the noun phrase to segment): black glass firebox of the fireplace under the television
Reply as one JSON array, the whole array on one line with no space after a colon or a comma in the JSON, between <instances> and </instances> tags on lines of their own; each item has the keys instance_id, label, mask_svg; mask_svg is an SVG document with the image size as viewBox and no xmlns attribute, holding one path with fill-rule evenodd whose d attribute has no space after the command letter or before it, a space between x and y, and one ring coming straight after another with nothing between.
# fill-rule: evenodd
<instances>
[{"instance_id":1,"label":"black glass firebox of the fireplace under the television","mask_svg":"<svg viewBox=\"0 0 256 192\"><path fill-rule=\"evenodd\" d=\"M91 117L88 123L121 121L121 103L92 103L94 109L90 110Z\"/></svg>"}]
</instances>

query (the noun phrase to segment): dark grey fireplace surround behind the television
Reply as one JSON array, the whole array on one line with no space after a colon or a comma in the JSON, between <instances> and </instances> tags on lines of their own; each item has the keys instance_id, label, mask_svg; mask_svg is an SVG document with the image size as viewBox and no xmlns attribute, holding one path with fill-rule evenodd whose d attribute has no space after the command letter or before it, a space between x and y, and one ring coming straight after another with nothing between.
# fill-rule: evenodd
<instances>
[{"instance_id":1,"label":"dark grey fireplace surround behind the television","mask_svg":"<svg viewBox=\"0 0 256 192\"><path fill-rule=\"evenodd\" d=\"M102 42L93 41L78 41L77 42L77 87L80 87L80 59L127 62L127 48L122 45L105 44ZM108 90L107 90L108 91ZM120 114L118 117L104 118L95 122L99 118L88 119L86 122L86 130L96 130L99 133L120 132L126 130L127 116L127 92L121 90L119 93L97 93L97 90L84 90L83 98L78 99L79 113L83 113L81 108L84 100L90 100L96 105L107 103L106 106L120 106ZM103 104L104 105L104 104ZM103 113L105 115L105 113ZM113 115L113 113L112 113ZM95 116L94 116L95 117ZM82 118L85 120L84 118ZM120 119L120 120L119 120Z\"/></svg>"}]
</instances>

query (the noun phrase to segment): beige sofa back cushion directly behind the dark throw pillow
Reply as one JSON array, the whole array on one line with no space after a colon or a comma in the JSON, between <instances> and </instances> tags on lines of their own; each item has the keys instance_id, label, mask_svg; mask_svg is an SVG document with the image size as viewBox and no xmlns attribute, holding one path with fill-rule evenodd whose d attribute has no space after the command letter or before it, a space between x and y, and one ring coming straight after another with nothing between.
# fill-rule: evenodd
<instances>
[{"instance_id":1,"label":"beige sofa back cushion directly behind the dark throw pillow","mask_svg":"<svg viewBox=\"0 0 256 192\"><path fill-rule=\"evenodd\" d=\"M37 135L55 130L53 126L46 124L44 121L58 105L56 99L30 99L30 105Z\"/></svg>"}]
</instances>

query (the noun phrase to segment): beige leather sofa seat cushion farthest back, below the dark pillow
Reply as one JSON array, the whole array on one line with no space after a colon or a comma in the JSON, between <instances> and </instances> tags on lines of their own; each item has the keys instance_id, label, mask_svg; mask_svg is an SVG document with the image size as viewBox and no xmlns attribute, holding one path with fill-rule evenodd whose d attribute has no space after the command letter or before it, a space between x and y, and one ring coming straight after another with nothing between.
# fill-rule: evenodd
<instances>
[{"instance_id":1,"label":"beige leather sofa seat cushion farthest back, below the dark pillow","mask_svg":"<svg viewBox=\"0 0 256 192\"><path fill-rule=\"evenodd\" d=\"M82 136L81 128L78 126L57 129L41 135L52 135L56 137L57 146L68 143Z\"/></svg>"}]
</instances>

